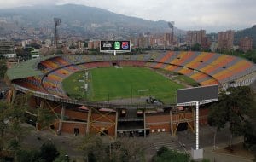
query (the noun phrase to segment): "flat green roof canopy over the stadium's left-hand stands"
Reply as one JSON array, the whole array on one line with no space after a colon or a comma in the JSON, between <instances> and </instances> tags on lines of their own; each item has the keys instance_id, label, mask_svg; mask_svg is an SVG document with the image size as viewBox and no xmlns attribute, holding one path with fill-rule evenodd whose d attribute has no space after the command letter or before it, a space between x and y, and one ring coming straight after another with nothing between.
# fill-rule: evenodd
<instances>
[{"instance_id":1,"label":"flat green roof canopy over the stadium's left-hand stands","mask_svg":"<svg viewBox=\"0 0 256 162\"><path fill-rule=\"evenodd\" d=\"M20 62L19 64L16 64L13 67L9 68L6 74L9 80L43 75L43 72L38 70L38 63L56 56L59 55L49 55L45 57L40 57L38 59Z\"/></svg>"}]
</instances>

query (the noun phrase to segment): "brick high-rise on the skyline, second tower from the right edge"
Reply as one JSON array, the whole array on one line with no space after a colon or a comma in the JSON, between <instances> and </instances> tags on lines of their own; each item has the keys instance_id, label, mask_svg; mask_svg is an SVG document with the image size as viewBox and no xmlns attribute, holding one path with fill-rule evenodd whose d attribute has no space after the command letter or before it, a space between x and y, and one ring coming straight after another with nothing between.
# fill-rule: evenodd
<instances>
[{"instance_id":1,"label":"brick high-rise on the skyline, second tower from the right edge","mask_svg":"<svg viewBox=\"0 0 256 162\"><path fill-rule=\"evenodd\" d=\"M230 50L233 48L234 31L218 32L218 49Z\"/></svg>"}]
</instances>

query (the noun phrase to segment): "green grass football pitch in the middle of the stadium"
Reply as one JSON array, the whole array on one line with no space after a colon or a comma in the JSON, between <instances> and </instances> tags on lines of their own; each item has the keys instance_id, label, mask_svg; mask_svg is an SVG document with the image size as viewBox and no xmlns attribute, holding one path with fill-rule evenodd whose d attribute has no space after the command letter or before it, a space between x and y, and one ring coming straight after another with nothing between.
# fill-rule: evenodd
<instances>
[{"instance_id":1,"label":"green grass football pitch in the middle of the stadium","mask_svg":"<svg viewBox=\"0 0 256 162\"><path fill-rule=\"evenodd\" d=\"M153 96L166 104L176 103L176 90L184 87L145 67L94 68L76 72L62 84L67 94L76 99L111 101Z\"/></svg>"}]
</instances>

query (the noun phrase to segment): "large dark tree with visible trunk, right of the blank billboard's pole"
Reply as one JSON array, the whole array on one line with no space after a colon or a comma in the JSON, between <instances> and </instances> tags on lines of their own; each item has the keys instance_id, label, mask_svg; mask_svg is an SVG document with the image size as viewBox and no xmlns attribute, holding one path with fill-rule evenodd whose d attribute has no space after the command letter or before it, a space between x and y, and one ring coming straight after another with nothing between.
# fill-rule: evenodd
<instances>
[{"instance_id":1,"label":"large dark tree with visible trunk, right of the blank billboard's pole","mask_svg":"<svg viewBox=\"0 0 256 162\"><path fill-rule=\"evenodd\" d=\"M218 130L230 123L230 147L232 136L243 136L245 132L245 116L253 106L253 91L249 87L229 88L220 93L219 101L212 104L208 122L217 126Z\"/></svg>"}]
</instances>

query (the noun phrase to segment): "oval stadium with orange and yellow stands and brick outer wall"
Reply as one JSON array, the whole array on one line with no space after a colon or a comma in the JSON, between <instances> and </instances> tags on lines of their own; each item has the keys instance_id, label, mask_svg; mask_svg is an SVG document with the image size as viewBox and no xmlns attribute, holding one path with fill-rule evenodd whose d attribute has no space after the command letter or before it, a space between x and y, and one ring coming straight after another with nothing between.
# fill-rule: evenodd
<instances>
[{"instance_id":1,"label":"oval stadium with orange and yellow stands and brick outer wall","mask_svg":"<svg viewBox=\"0 0 256 162\"><path fill-rule=\"evenodd\" d=\"M16 95L19 94L30 95L26 101L30 107L35 109L40 107L54 114L55 120L49 124L49 129L54 130L56 134L96 133L117 137L170 132L174 136L177 130L183 128L194 130L194 108L177 107L175 101L171 100L171 95L175 97L176 89L182 88L182 85L173 85L172 93L174 94L161 98L161 95L155 94L161 90L164 91L165 88L150 94L154 86L150 88L148 88L149 85L137 86L135 83L140 82L138 78L124 77L127 78L125 80L129 80L128 88L121 85L118 90L128 89L124 93L120 92L124 95L126 102L112 102L118 100L118 96L115 95L118 94L118 90L115 92L105 90L105 87L113 82L113 80L106 81L108 73L105 72L106 76L103 76L104 72L102 72L97 79L91 74L92 69L106 69L109 72L111 69L129 68L149 70L151 71L149 76L153 76L156 70L174 72L174 75L184 75L195 80L198 85L218 84L224 90L229 87L252 84L256 79L256 66L253 62L217 53L150 51L147 54L116 56L51 55L21 62L8 70L6 78L13 87L9 90L9 101L14 102ZM80 78L71 78L77 72L80 72ZM163 76L166 78L166 75L161 75ZM68 78L78 82L63 86L68 82ZM102 98L87 96L90 93L95 94L95 97L98 96L93 90L96 90L96 81L99 80L105 80L107 83L99 88L100 92L104 91L103 95L98 94L102 95ZM151 81L151 79L147 80L148 83ZM120 82L116 81L113 84L119 85ZM143 81L143 84L146 82ZM160 81L162 82L164 81ZM168 83L163 85L167 86ZM109 84L109 87L111 86L112 84ZM68 91L68 87L76 87L75 90L82 95L73 95L72 91ZM171 92L166 91L162 94L168 93ZM147 97L149 98L145 101ZM168 97L171 101L168 101ZM144 102L136 102L137 98L143 98ZM154 98L160 99L160 102ZM200 109L200 124L207 124L207 113L207 108ZM40 123L37 123L37 129L42 129Z\"/></svg>"}]
</instances>

